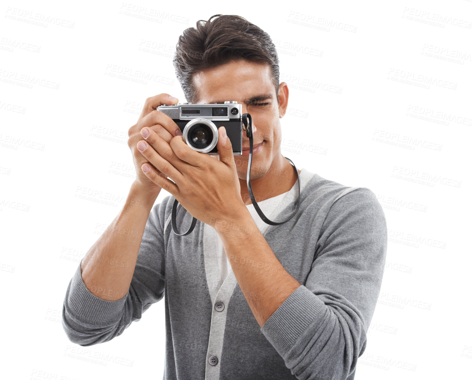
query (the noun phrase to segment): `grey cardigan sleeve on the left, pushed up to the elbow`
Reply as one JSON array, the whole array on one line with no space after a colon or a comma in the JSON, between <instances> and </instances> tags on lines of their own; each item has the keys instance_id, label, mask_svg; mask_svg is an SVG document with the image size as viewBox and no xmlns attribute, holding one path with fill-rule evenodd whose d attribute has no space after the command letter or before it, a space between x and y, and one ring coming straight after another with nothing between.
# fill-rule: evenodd
<instances>
[{"instance_id":1,"label":"grey cardigan sleeve on the left, pushed up to the elbow","mask_svg":"<svg viewBox=\"0 0 472 380\"><path fill-rule=\"evenodd\" d=\"M85 286L80 263L69 281L62 306L62 327L67 338L80 346L92 346L121 335L133 321L164 296L165 244L163 237L165 206L154 205L144 228L135 271L126 296L107 301Z\"/></svg>"}]
</instances>

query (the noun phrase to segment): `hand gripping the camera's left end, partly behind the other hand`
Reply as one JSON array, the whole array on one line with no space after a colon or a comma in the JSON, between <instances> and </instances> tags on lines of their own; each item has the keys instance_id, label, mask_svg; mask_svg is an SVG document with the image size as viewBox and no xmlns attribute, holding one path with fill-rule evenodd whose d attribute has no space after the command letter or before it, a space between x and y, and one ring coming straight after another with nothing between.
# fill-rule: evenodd
<instances>
[{"instance_id":1,"label":"hand gripping the camera's left end, partly behind the other hand","mask_svg":"<svg viewBox=\"0 0 472 380\"><path fill-rule=\"evenodd\" d=\"M141 135L141 130L144 127L152 129L169 144L170 140L177 135L177 130L179 131L178 135L182 135L177 124L169 116L157 110L157 107L162 104L172 105L178 102L177 98L171 98L168 93L161 93L147 98L137 123L128 130L128 146L133 154L136 169L135 185L142 187L148 194L155 194L156 197L161 187L146 177L141 167L144 163L147 163L152 168L156 168L139 152L137 144L139 141L144 140L143 135ZM156 171L158 174L162 174L158 169Z\"/></svg>"}]
</instances>

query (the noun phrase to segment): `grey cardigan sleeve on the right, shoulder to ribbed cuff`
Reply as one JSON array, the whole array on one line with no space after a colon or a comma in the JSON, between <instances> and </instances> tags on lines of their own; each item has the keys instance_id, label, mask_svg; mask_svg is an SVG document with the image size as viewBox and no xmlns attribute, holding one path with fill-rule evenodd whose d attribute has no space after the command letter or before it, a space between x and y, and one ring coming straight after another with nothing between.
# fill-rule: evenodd
<instances>
[{"instance_id":1,"label":"grey cardigan sleeve on the right, shoulder to ribbed cuff","mask_svg":"<svg viewBox=\"0 0 472 380\"><path fill-rule=\"evenodd\" d=\"M380 293L387 223L375 194L357 188L329 208L306 283L261 327L297 379L345 380L365 351Z\"/></svg>"}]
</instances>

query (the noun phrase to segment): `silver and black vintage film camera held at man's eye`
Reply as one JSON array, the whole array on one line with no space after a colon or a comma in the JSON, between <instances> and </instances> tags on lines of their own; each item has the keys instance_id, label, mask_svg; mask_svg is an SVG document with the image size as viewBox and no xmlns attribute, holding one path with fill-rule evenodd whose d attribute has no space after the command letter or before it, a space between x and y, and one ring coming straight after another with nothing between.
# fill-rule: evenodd
<instances>
[{"instance_id":1,"label":"silver and black vintage film camera held at man's eye","mask_svg":"<svg viewBox=\"0 0 472 380\"><path fill-rule=\"evenodd\" d=\"M218 128L224 126L233 154L242 154L243 114L237 101L225 101L224 104L163 104L157 110L174 120L184 142L195 151L218 155Z\"/></svg>"}]
</instances>

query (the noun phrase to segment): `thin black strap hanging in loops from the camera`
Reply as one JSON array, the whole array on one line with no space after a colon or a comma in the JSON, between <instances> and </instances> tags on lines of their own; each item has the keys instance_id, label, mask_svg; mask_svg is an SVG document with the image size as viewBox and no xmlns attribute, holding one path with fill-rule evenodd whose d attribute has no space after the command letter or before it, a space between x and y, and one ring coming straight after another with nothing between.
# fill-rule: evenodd
<instances>
[{"instance_id":1,"label":"thin black strap hanging in loops from the camera","mask_svg":"<svg viewBox=\"0 0 472 380\"><path fill-rule=\"evenodd\" d=\"M296 209L295 209L295 212L293 212L292 215L287 220L284 220L284 221L281 221L281 222L274 222L273 220L270 220L269 218L267 218L264 215L264 213L262 212L262 210L259 208L259 206L257 205L256 199L254 198L254 194L253 194L253 188L251 187L251 165L252 165L252 161L253 161L253 143L254 143L254 139L253 139L253 118L251 117L251 114L249 114L249 113L243 114L243 124L244 124L243 131L246 132L246 137L249 138L249 160L247 162L247 190L249 192L249 196L251 197L251 202L253 203L254 209L256 210L256 212L259 214L259 216L261 217L261 219L265 223L271 224L273 226L283 224L283 223L287 222L288 220L292 219L295 216L295 214L298 212L298 209L300 207L300 173L298 173L298 169L296 168L296 166L292 162L292 160L290 160L288 157L284 156L288 160L288 162L290 162L290 164L292 164L292 166L294 167L295 173L296 173L296 176L297 176L298 198L297 198L297 201L296 201ZM193 217L194 219L192 220L192 223L190 224L190 227L188 228L187 232L184 232L183 234L179 234L178 231L177 231L177 223L176 223L177 204L178 204L178 201L176 199L174 201L173 206L172 206L172 216L170 218L170 221L171 221L171 224L172 224L172 231L174 231L174 234L176 234L178 236L185 236L185 235L190 234L194 230L195 225L197 223L197 219L195 217Z\"/></svg>"}]
</instances>

